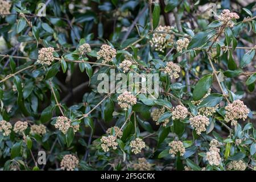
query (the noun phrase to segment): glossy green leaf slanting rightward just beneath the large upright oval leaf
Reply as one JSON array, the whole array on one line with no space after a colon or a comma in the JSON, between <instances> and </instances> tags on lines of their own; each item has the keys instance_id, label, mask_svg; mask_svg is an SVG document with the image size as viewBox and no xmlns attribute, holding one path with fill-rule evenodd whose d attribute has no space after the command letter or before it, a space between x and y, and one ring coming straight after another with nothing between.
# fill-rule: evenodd
<instances>
[{"instance_id":1,"label":"glossy green leaf slanting rightward just beneath the large upright oval leaf","mask_svg":"<svg viewBox=\"0 0 256 182\"><path fill-rule=\"evenodd\" d=\"M212 93L209 96L205 97L204 100L200 103L198 108L201 107L214 107L219 104L223 99L222 94Z\"/></svg>"}]
</instances>

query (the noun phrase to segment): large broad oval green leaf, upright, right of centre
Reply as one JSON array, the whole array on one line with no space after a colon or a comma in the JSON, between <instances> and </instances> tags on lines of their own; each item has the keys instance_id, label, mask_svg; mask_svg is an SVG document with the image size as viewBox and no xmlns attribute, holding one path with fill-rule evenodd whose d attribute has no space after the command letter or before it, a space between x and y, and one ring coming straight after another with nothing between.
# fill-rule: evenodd
<instances>
[{"instance_id":1,"label":"large broad oval green leaf, upright, right of centre","mask_svg":"<svg viewBox=\"0 0 256 182\"><path fill-rule=\"evenodd\" d=\"M199 101L201 98L203 98L205 94L208 92L211 85L212 85L212 75L203 76L199 80L199 82L197 82L193 90L193 100Z\"/></svg>"}]
</instances>

